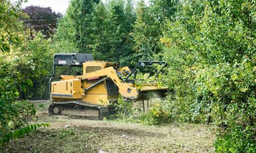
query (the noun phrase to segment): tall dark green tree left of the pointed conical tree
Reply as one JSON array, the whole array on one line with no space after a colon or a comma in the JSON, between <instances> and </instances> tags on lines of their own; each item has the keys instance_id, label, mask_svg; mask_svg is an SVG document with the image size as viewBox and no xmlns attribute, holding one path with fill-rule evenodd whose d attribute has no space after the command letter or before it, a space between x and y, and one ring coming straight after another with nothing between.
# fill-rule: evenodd
<instances>
[{"instance_id":1,"label":"tall dark green tree left of the pointed conical tree","mask_svg":"<svg viewBox=\"0 0 256 153\"><path fill-rule=\"evenodd\" d=\"M133 53L132 38L129 36L129 33L132 29L134 14L129 5L131 5L129 1L124 6L123 0L112 0L107 6L109 8L109 23L105 30L108 33L108 38L105 41L109 44L109 61L120 62L121 60L121 65L124 64L122 59L131 56ZM125 12L125 7L127 7L127 12Z\"/></svg>"}]
</instances>

